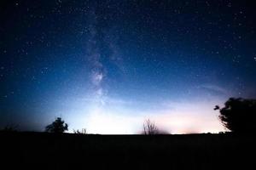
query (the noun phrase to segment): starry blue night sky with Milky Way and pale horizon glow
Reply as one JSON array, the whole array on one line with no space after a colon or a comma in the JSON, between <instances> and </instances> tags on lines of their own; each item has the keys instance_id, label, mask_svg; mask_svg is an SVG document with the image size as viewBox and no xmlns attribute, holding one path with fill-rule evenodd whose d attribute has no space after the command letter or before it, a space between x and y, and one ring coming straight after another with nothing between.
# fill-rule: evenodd
<instances>
[{"instance_id":1,"label":"starry blue night sky with Milky Way and pale horizon glow","mask_svg":"<svg viewBox=\"0 0 256 170\"><path fill-rule=\"evenodd\" d=\"M256 97L256 4L2 0L0 127L223 131L214 105Z\"/></svg>"}]
</instances>

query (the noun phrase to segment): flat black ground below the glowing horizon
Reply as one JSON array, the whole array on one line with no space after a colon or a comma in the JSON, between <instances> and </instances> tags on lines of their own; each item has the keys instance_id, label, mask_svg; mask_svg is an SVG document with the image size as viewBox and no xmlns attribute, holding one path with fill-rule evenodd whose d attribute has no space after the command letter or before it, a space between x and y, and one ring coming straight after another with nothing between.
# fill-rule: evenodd
<instances>
[{"instance_id":1,"label":"flat black ground below the glowing horizon","mask_svg":"<svg viewBox=\"0 0 256 170\"><path fill-rule=\"evenodd\" d=\"M0 133L2 167L33 169L256 169L252 135Z\"/></svg>"}]
</instances>

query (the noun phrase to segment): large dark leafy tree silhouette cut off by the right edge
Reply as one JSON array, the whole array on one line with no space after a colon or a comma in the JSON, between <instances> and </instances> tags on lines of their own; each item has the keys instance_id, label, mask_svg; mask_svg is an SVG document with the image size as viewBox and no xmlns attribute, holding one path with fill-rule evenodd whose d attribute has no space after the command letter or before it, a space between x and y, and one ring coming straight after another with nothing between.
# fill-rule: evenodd
<instances>
[{"instance_id":1,"label":"large dark leafy tree silhouette cut off by the right edge","mask_svg":"<svg viewBox=\"0 0 256 170\"><path fill-rule=\"evenodd\" d=\"M219 110L219 119L224 127L234 133L256 132L256 99L230 98L224 108L215 106Z\"/></svg>"}]
</instances>

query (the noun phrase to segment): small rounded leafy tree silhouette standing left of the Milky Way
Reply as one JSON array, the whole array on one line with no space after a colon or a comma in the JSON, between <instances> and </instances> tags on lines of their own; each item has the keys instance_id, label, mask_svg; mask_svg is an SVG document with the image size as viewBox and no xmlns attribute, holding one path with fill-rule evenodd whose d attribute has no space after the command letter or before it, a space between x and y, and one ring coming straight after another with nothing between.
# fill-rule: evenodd
<instances>
[{"instance_id":1,"label":"small rounded leafy tree silhouette standing left of the Milky Way","mask_svg":"<svg viewBox=\"0 0 256 170\"><path fill-rule=\"evenodd\" d=\"M64 133L68 130L68 125L61 120L61 117L57 117L55 122L52 122L47 127L45 127L45 132L48 133Z\"/></svg>"}]
</instances>

